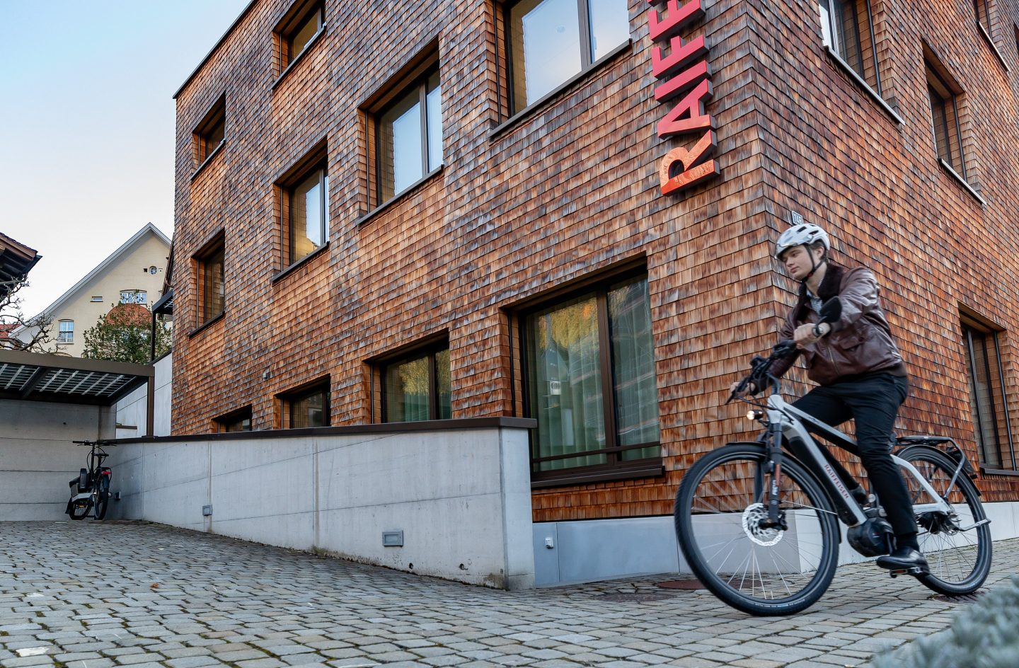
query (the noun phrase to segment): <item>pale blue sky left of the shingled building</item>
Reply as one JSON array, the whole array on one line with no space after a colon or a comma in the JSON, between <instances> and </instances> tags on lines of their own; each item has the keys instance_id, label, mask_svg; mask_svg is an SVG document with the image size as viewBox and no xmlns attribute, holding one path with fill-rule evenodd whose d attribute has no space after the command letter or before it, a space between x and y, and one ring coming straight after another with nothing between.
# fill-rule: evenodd
<instances>
[{"instance_id":1,"label":"pale blue sky left of the shingled building","mask_svg":"<svg viewBox=\"0 0 1019 668\"><path fill-rule=\"evenodd\" d=\"M173 93L249 0L0 0L0 232L35 314L147 222L173 232Z\"/></svg>"}]
</instances>

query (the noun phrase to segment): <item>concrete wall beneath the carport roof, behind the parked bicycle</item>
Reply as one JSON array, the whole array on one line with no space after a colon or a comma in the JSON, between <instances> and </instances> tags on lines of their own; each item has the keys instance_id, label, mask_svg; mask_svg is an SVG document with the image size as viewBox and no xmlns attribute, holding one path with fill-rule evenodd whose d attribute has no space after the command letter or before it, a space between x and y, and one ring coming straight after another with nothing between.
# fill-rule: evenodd
<instances>
[{"instance_id":1,"label":"concrete wall beneath the carport roof, behind the parked bicycle","mask_svg":"<svg viewBox=\"0 0 1019 668\"><path fill-rule=\"evenodd\" d=\"M67 481L89 453L71 441L112 437L108 407L0 401L0 520L67 519Z\"/></svg>"}]
</instances>

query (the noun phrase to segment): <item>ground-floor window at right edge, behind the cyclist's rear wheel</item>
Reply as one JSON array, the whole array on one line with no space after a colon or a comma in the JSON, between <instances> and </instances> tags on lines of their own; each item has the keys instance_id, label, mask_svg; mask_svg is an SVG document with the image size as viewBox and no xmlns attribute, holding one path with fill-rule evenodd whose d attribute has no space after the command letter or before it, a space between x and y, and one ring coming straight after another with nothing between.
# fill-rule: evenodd
<instances>
[{"instance_id":1,"label":"ground-floor window at right edge, behind the cyclist's rear wheel","mask_svg":"<svg viewBox=\"0 0 1019 668\"><path fill-rule=\"evenodd\" d=\"M987 468L1015 470L1000 332L963 316L962 335L969 372L969 403L981 464Z\"/></svg>"}]
</instances>

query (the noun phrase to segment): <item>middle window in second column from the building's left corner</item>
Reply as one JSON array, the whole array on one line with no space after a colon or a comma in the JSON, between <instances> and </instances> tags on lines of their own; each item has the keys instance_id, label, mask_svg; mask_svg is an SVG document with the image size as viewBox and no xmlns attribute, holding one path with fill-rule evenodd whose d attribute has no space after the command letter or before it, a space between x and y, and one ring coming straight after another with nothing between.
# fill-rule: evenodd
<instances>
[{"instance_id":1,"label":"middle window in second column from the building's left corner","mask_svg":"<svg viewBox=\"0 0 1019 668\"><path fill-rule=\"evenodd\" d=\"M325 159L280 184L283 265L292 265L329 239L329 175Z\"/></svg>"}]
</instances>

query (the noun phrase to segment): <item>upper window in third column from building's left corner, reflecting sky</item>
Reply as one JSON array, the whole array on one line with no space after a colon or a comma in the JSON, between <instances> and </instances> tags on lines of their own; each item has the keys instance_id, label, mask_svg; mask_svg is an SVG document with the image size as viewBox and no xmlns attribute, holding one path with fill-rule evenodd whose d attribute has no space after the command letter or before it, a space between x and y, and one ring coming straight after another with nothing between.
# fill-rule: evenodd
<instances>
[{"instance_id":1,"label":"upper window in third column from building's left corner, reflecting sky","mask_svg":"<svg viewBox=\"0 0 1019 668\"><path fill-rule=\"evenodd\" d=\"M378 202L442 164L442 89L438 69L421 76L375 115Z\"/></svg>"}]
</instances>

